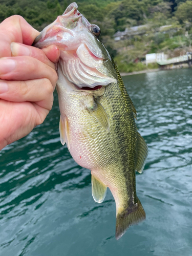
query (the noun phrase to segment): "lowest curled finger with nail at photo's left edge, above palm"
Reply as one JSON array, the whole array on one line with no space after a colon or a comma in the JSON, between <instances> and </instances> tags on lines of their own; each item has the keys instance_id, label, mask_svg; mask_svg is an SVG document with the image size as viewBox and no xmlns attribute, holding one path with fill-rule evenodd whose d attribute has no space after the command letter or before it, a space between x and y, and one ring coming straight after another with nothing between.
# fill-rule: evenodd
<instances>
[{"instance_id":1,"label":"lowest curled finger with nail at photo's left edge, above palm","mask_svg":"<svg viewBox=\"0 0 192 256\"><path fill-rule=\"evenodd\" d=\"M47 78L27 81L0 81L0 98L13 102L40 102L42 108L51 110L53 86Z\"/></svg>"}]
</instances>

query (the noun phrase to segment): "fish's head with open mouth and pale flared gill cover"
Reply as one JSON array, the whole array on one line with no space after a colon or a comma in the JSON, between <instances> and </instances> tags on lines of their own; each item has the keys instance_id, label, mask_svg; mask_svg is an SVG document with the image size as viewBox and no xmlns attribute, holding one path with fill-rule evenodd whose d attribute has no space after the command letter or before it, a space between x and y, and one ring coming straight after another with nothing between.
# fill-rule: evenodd
<instances>
[{"instance_id":1,"label":"fish's head with open mouth and pale flared gill cover","mask_svg":"<svg viewBox=\"0 0 192 256\"><path fill-rule=\"evenodd\" d=\"M56 45L58 70L78 88L97 88L117 82L109 52L99 40L100 29L77 10L76 3L47 26L34 40L37 48Z\"/></svg>"}]
</instances>

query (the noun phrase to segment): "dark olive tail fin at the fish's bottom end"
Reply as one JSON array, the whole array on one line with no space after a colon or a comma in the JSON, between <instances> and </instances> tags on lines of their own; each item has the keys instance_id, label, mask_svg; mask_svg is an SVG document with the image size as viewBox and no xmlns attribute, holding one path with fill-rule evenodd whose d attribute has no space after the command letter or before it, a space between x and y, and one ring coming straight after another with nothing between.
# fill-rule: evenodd
<instances>
[{"instance_id":1,"label":"dark olive tail fin at the fish's bottom end","mask_svg":"<svg viewBox=\"0 0 192 256\"><path fill-rule=\"evenodd\" d=\"M125 211L117 214L116 239L121 238L127 228L143 220L145 220L145 211L138 199L138 202L132 208L127 208Z\"/></svg>"}]
</instances>

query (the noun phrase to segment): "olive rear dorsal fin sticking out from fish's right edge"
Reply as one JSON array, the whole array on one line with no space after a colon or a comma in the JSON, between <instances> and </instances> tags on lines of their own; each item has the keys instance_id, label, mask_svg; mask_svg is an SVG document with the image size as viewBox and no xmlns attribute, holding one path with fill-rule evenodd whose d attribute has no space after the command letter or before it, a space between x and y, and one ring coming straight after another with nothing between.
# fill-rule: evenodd
<instances>
[{"instance_id":1,"label":"olive rear dorsal fin sticking out from fish's right edge","mask_svg":"<svg viewBox=\"0 0 192 256\"><path fill-rule=\"evenodd\" d=\"M138 146L137 146L136 170L138 173L141 174L144 168L145 159L148 154L148 148L143 137L141 137L141 135L138 132L137 134L138 134Z\"/></svg>"}]
</instances>

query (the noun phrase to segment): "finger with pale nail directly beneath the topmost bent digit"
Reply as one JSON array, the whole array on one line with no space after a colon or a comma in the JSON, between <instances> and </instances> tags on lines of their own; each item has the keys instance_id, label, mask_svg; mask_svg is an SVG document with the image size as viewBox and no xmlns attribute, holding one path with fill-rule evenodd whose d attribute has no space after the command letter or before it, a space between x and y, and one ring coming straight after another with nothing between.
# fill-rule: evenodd
<instances>
[{"instance_id":1,"label":"finger with pale nail directly beneath the topmost bent digit","mask_svg":"<svg viewBox=\"0 0 192 256\"><path fill-rule=\"evenodd\" d=\"M55 69L55 65L53 64L52 61L49 60L49 58L46 56L46 54L42 50L35 48L33 46L27 46L27 45L23 45L23 44L20 44L17 42L12 42L11 43L11 53L12 53L12 56L14 56L14 57L16 57L16 56L31 56L33 58L40 60L41 62L44 62L49 67ZM54 54L53 54L53 56L54 56ZM56 54L55 58L57 58L57 56L58 56L58 53Z\"/></svg>"}]
</instances>

